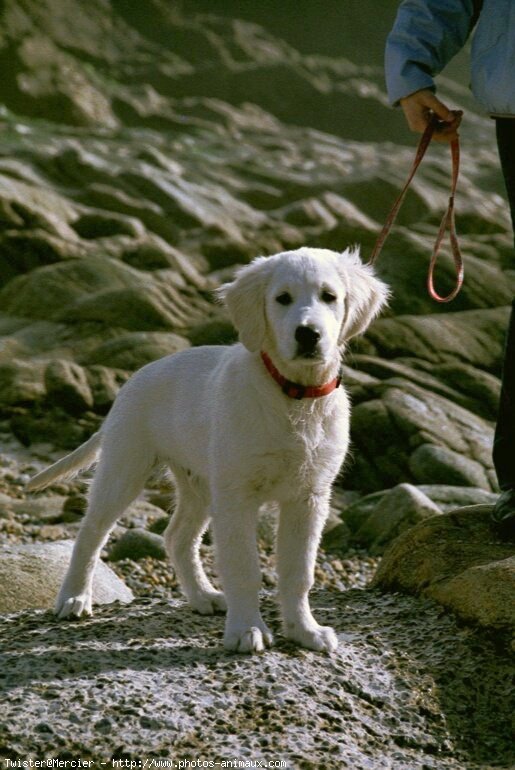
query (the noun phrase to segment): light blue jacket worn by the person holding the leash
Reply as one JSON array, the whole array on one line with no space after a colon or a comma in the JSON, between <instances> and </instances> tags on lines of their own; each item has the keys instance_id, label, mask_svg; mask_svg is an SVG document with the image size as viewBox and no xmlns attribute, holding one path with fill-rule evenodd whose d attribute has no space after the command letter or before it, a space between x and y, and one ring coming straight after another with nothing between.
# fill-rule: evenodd
<instances>
[{"instance_id":1,"label":"light blue jacket worn by the person holding the leash","mask_svg":"<svg viewBox=\"0 0 515 770\"><path fill-rule=\"evenodd\" d=\"M433 76L472 32L473 0L404 0L386 43L386 86L391 104L434 90ZM515 116L515 0L484 0L471 51L471 87L490 115Z\"/></svg>"}]
</instances>

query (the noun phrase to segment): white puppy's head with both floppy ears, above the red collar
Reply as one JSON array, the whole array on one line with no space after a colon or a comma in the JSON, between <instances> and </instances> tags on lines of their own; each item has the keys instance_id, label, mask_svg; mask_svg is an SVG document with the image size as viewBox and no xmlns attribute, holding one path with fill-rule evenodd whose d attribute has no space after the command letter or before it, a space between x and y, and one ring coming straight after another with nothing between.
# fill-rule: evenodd
<instances>
[{"instance_id":1,"label":"white puppy's head with both floppy ears, above the red collar","mask_svg":"<svg viewBox=\"0 0 515 770\"><path fill-rule=\"evenodd\" d=\"M379 313L388 289L357 250L258 257L219 289L240 341L284 362L327 365Z\"/></svg>"}]
</instances>

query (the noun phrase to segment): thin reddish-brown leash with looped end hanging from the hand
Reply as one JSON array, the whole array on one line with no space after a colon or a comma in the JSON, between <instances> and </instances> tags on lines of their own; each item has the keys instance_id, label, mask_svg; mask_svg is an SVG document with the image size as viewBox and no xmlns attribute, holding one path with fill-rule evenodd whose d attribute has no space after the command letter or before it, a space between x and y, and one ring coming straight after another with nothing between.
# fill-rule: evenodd
<instances>
[{"instance_id":1,"label":"thin reddish-brown leash with looped end hanging from the hand","mask_svg":"<svg viewBox=\"0 0 515 770\"><path fill-rule=\"evenodd\" d=\"M369 259L370 265L372 265L376 261L379 254L381 253L381 250L384 246L384 242L386 241L390 233L390 230L392 229L395 223L395 220L397 219L397 214L399 213L399 209L402 206L404 198L406 197L406 193L408 192L408 188L411 184L411 181L415 176L415 173L422 162L422 158L424 157L426 150L429 147L433 133L437 128L438 124L439 124L439 121L437 117L433 115L432 119L427 124L426 130L422 134L422 138L420 139L420 142L418 143L415 159L413 161L413 165L411 167L411 171L409 173L406 184L402 188L399 197L393 204L392 209L386 220L386 223L383 229L381 230L381 232L379 233L375 246L372 250L372 255ZM454 221L454 197L456 194L456 187L458 184L458 175L460 170L460 144L458 139L454 139L451 142L451 158L452 158L451 194L449 196L449 203L447 205L447 209L445 211L445 214L442 217L440 228L438 230L438 235L436 236L436 241L433 247L433 253L431 254L431 259L429 261L429 269L427 274L427 290L429 292L429 295L437 302L451 302L451 300L453 300L457 296L463 284L463 274L464 274L463 257L461 256L460 246L458 243L458 236L456 234L456 224ZM452 257L454 260L454 266L456 268L456 285L454 289L449 294L447 294L447 296L442 297L436 291L434 287L433 279L434 279L434 272L436 268L436 262L438 259L438 253L440 251L440 246L442 245L442 241L447 230L449 230L449 240L451 244Z\"/></svg>"}]
</instances>

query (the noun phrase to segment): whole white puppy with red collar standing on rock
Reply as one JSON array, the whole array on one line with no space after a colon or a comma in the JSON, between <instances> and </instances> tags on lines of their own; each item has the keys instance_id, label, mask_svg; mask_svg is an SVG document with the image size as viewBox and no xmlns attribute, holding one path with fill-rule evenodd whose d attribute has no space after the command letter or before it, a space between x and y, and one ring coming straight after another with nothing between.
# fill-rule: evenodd
<instances>
[{"instance_id":1,"label":"whole white puppy with red collar standing on rock","mask_svg":"<svg viewBox=\"0 0 515 770\"><path fill-rule=\"evenodd\" d=\"M30 482L30 489L44 487L101 450L56 612L91 613L99 553L159 463L170 467L178 490L167 551L195 610L227 609L225 647L257 652L272 643L259 611L256 521L259 507L275 501L284 633L331 651L336 635L316 622L308 593L331 484L348 446L340 359L346 341L386 302L387 288L357 251L301 248L254 260L219 294L241 344L193 348L143 367L102 429ZM223 594L199 558L210 519Z\"/></svg>"}]
</instances>

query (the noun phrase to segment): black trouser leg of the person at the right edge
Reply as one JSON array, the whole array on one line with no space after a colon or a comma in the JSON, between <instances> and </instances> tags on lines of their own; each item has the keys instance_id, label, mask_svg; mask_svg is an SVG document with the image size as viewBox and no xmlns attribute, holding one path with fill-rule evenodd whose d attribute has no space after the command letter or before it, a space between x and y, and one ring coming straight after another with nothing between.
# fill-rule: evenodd
<instances>
[{"instance_id":1,"label":"black trouser leg of the person at the right edge","mask_svg":"<svg viewBox=\"0 0 515 770\"><path fill-rule=\"evenodd\" d=\"M515 119L497 119L496 129L501 167L515 230ZM515 488L515 300L506 337L493 459L501 489Z\"/></svg>"}]
</instances>

